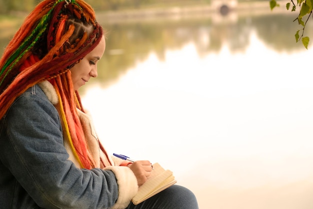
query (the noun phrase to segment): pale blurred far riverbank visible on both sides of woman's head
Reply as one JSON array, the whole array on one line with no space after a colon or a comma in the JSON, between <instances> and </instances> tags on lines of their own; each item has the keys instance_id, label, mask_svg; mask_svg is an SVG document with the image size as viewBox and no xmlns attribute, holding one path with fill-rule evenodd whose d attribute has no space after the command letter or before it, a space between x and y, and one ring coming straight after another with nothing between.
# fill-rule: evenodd
<instances>
[{"instance_id":1,"label":"pale blurred far riverbank visible on both sides of woman's head","mask_svg":"<svg viewBox=\"0 0 313 209\"><path fill-rule=\"evenodd\" d=\"M287 11L284 7L285 1L277 1L277 3L280 4L280 7L275 8L273 11L270 10L269 1L263 1L244 2L235 5L188 5L169 8L144 8L106 12L96 11L96 18L99 22L104 24L198 18L212 18L220 22L223 20L233 20L235 19L234 17L237 16L259 16L272 13L291 14L291 12ZM14 13L8 18L0 17L0 38L13 34L26 15L27 14L24 13Z\"/></svg>"}]
</instances>

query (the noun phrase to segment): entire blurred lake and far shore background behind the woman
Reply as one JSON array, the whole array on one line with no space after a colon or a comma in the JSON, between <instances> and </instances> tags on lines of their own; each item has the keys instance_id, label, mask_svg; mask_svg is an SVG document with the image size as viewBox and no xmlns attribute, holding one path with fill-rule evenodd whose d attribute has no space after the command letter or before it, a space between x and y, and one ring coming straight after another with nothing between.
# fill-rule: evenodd
<instances>
[{"instance_id":1,"label":"entire blurred lake and far shore background behind the woman","mask_svg":"<svg viewBox=\"0 0 313 209\"><path fill-rule=\"evenodd\" d=\"M311 209L313 72L268 1L86 1L107 32L80 89L111 152L159 162L200 209ZM37 1L0 0L0 46ZM313 37L311 20L305 33Z\"/></svg>"}]
</instances>

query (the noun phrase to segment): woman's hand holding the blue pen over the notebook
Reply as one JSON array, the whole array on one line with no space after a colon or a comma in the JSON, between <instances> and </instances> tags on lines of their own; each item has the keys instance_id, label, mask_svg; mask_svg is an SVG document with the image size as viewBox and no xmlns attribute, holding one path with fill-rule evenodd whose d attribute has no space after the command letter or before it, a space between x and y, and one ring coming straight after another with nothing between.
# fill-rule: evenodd
<instances>
[{"instance_id":1,"label":"woman's hand holding the blue pen over the notebook","mask_svg":"<svg viewBox=\"0 0 313 209\"><path fill-rule=\"evenodd\" d=\"M152 166L148 160L138 160L127 165L137 178L138 186L142 185L151 174Z\"/></svg>"}]
</instances>

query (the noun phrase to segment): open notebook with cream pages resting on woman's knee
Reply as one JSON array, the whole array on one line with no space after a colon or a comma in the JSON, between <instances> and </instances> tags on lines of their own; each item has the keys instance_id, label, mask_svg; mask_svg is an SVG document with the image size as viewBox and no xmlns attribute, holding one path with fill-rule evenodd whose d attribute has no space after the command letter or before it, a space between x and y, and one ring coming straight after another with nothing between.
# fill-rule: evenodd
<instances>
[{"instance_id":1,"label":"open notebook with cream pages resting on woman's knee","mask_svg":"<svg viewBox=\"0 0 313 209\"><path fill-rule=\"evenodd\" d=\"M158 163L152 166L153 170L148 180L139 187L137 194L131 199L132 203L139 204L177 182L172 171L165 170Z\"/></svg>"}]
</instances>

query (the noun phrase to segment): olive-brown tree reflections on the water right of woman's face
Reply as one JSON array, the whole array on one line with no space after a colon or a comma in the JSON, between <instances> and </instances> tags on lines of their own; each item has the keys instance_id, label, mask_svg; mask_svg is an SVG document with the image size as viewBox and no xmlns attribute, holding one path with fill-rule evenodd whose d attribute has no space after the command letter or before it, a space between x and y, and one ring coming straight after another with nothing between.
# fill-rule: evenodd
<instances>
[{"instance_id":1,"label":"olive-brown tree reflections on the water right of woman's face","mask_svg":"<svg viewBox=\"0 0 313 209\"><path fill-rule=\"evenodd\" d=\"M219 53L227 44L230 53L244 52L250 44L249 34L255 33L263 44L276 52L305 50L295 43L293 34L298 26L290 15L267 15L237 18L237 21L214 25L210 19L172 20L168 22L135 22L101 24L108 32L106 53L100 62L103 71L97 81L107 86L118 80L125 71L155 54L164 60L166 50L179 50L193 43L197 56ZM101 20L100 20L101 21ZM306 30L311 35L311 30Z\"/></svg>"}]
</instances>

